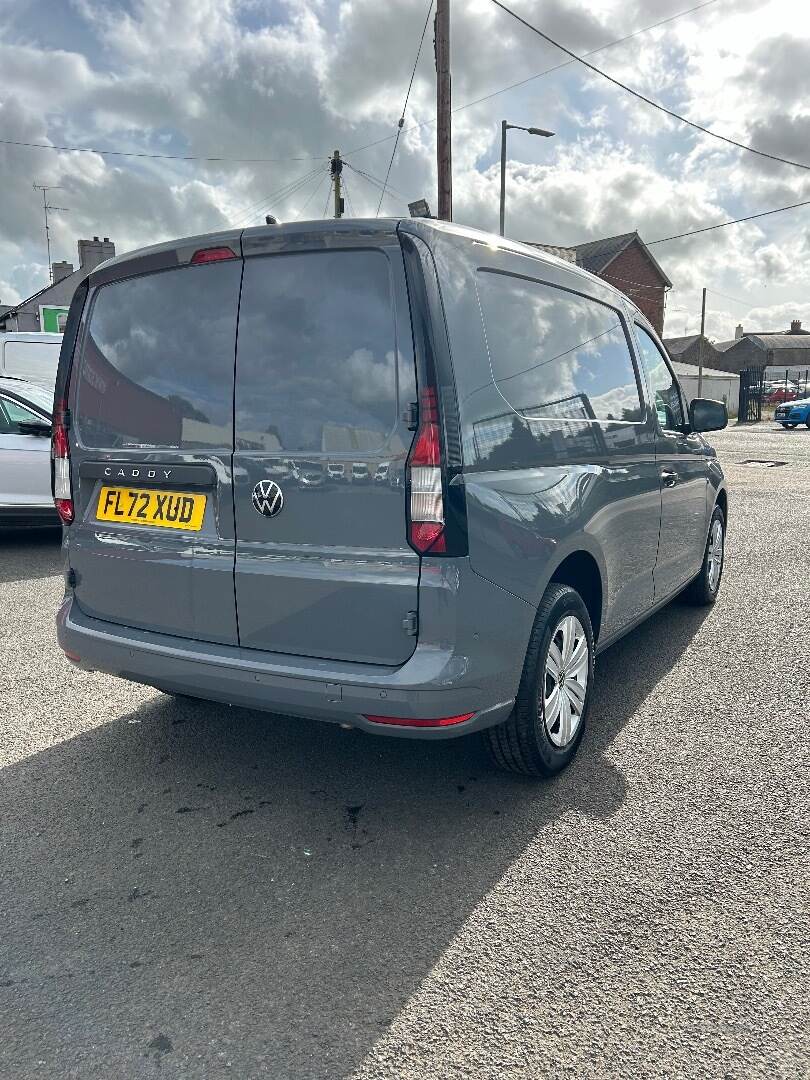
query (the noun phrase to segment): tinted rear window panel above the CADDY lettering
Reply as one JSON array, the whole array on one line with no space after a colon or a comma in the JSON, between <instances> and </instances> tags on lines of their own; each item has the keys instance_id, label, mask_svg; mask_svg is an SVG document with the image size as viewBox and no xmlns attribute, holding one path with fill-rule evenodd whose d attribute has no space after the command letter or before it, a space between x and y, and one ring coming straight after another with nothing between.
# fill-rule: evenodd
<instances>
[{"instance_id":1,"label":"tinted rear window panel above the CADDY lettering","mask_svg":"<svg viewBox=\"0 0 810 1080\"><path fill-rule=\"evenodd\" d=\"M84 336L85 446L230 449L241 260L104 285Z\"/></svg>"}]
</instances>

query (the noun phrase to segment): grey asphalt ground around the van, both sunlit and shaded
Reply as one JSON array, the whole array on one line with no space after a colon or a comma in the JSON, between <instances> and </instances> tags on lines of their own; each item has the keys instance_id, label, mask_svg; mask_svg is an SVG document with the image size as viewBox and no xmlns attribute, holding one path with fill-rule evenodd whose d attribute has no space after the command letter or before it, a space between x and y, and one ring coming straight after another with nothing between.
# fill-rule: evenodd
<instances>
[{"instance_id":1,"label":"grey asphalt ground around the van, both sunlit and shaded","mask_svg":"<svg viewBox=\"0 0 810 1080\"><path fill-rule=\"evenodd\" d=\"M76 672L0 540L3 1080L810 1076L810 432L715 442L721 598L546 785Z\"/></svg>"}]
</instances>

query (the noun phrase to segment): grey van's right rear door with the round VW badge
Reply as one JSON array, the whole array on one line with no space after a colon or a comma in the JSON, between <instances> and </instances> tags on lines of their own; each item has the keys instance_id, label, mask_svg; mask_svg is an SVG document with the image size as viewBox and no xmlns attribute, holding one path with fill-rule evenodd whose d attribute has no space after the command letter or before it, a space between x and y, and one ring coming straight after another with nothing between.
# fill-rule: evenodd
<instances>
[{"instance_id":1,"label":"grey van's right rear door with the round VW badge","mask_svg":"<svg viewBox=\"0 0 810 1080\"><path fill-rule=\"evenodd\" d=\"M395 233L244 238L235 387L242 646L396 665L419 558L402 468L414 350Z\"/></svg>"}]
</instances>

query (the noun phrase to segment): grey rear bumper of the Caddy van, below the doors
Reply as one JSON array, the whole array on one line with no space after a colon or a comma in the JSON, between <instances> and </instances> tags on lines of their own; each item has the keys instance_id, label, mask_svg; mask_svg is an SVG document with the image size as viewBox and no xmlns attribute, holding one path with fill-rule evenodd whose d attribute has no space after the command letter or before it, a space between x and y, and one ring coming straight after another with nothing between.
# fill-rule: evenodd
<instances>
[{"instance_id":1,"label":"grey rear bumper of the Caddy van, below the doors","mask_svg":"<svg viewBox=\"0 0 810 1080\"><path fill-rule=\"evenodd\" d=\"M471 685L469 658L417 648L402 667L340 664L134 630L86 616L68 592L56 617L60 647L77 666L174 693L292 716L351 724L377 734L451 739L505 719L511 680ZM458 678L455 675L458 675ZM454 685L458 684L458 685ZM487 685L488 684L488 685ZM504 697L504 690L511 694ZM474 715L445 728L374 724L368 715L432 719Z\"/></svg>"}]
</instances>

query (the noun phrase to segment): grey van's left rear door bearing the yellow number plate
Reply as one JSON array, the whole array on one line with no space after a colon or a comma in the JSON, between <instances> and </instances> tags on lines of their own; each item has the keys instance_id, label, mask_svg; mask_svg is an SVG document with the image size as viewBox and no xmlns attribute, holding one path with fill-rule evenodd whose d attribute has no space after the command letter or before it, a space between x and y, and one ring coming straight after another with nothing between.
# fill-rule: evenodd
<instances>
[{"instance_id":1,"label":"grey van's left rear door bearing the yellow number plate","mask_svg":"<svg viewBox=\"0 0 810 1080\"><path fill-rule=\"evenodd\" d=\"M241 272L234 257L111 281L90 297L71 376L69 528L76 597L90 616L237 644Z\"/></svg>"}]
</instances>

